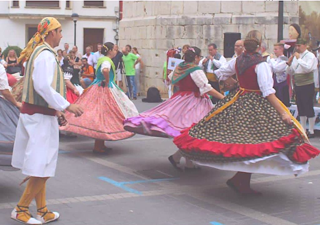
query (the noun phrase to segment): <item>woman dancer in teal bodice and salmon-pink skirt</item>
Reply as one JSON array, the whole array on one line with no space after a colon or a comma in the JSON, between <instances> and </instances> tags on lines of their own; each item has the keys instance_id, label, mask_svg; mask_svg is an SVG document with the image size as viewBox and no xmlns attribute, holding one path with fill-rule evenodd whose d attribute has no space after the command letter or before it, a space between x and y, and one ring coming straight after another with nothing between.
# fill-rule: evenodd
<instances>
[{"instance_id":1,"label":"woman dancer in teal bodice and salmon-pink skirt","mask_svg":"<svg viewBox=\"0 0 320 225\"><path fill-rule=\"evenodd\" d=\"M67 126L60 130L70 131L95 139L93 152L106 153L108 148L105 140L121 140L130 138L132 132L125 131L122 121L125 118L138 115L133 102L115 84L115 65L111 58L116 56L114 44L106 42L99 58L96 79L75 101L83 107L84 114L75 117L66 113Z\"/></svg>"}]
</instances>

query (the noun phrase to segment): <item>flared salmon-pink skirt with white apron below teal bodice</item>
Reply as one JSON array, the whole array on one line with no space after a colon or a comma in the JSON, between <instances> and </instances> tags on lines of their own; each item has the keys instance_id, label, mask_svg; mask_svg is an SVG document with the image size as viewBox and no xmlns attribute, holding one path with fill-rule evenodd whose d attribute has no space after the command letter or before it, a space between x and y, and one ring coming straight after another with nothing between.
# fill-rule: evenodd
<instances>
[{"instance_id":1,"label":"flared salmon-pink skirt with white apron below teal bodice","mask_svg":"<svg viewBox=\"0 0 320 225\"><path fill-rule=\"evenodd\" d=\"M132 101L116 86L89 87L74 102L84 109L80 117L66 113L68 124L60 130L70 131L94 139L121 140L130 138L134 133L123 128L123 120L138 115Z\"/></svg>"}]
</instances>

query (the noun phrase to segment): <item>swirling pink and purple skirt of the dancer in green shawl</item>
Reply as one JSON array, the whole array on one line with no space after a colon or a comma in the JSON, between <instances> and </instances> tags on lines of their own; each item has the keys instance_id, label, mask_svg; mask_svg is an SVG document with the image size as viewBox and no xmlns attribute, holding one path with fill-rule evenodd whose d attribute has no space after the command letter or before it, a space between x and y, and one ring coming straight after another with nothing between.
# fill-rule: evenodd
<instances>
[{"instance_id":1,"label":"swirling pink and purple skirt of the dancer in green shawl","mask_svg":"<svg viewBox=\"0 0 320 225\"><path fill-rule=\"evenodd\" d=\"M133 133L171 138L198 123L212 109L206 96L194 92L178 92L160 105L124 120L124 129Z\"/></svg>"}]
</instances>

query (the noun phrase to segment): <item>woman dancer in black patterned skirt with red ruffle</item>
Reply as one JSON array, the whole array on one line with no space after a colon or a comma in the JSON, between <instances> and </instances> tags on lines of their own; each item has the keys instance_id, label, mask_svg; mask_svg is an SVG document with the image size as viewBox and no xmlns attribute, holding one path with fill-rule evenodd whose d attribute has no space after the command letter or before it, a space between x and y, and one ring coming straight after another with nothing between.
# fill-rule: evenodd
<instances>
[{"instance_id":1,"label":"woman dancer in black patterned skirt with red ruffle","mask_svg":"<svg viewBox=\"0 0 320 225\"><path fill-rule=\"evenodd\" d=\"M252 173L301 174L319 154L276 98L270 66L258 53L261 41L259 31L249 32L246 51L214 71L227 83L236 74L240 87L174 139L182 155L200 165L239 171L227 185L251 195L260 194L250 188Z\"/></svg>"}]
</instances>

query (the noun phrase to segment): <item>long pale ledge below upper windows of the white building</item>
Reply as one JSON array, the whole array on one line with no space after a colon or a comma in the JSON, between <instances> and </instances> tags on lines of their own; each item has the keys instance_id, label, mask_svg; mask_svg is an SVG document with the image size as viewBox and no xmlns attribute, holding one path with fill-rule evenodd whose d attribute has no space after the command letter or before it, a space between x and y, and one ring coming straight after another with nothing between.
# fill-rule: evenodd
<instances>
[{"instance_id":1,"label":"long pale ledge below upper windows of the white building","mask_svg":"<svg viewBox=\"0 0 320 225\"><path fill-rule=\"evenodd\" d=\"M24 13L3 13L0 14L1 19L42 19L47 16L52 16L56 19L62 20L72 20L71 15L48 15L48 14L24 14ZM79 15L79 20L116 20L116 16L81 16Z\"/></svg>"}]
</instances>

